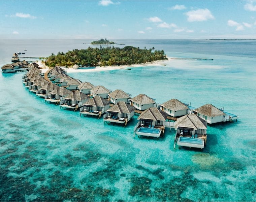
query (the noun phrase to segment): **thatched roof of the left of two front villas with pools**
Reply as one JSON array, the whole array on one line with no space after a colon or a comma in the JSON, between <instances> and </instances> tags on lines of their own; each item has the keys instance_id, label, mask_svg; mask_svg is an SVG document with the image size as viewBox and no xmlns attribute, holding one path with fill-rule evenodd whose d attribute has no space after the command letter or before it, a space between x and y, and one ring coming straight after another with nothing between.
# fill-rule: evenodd
<instances>
[{"instance_id":1,"label":"thatched roof of the left of two front villas with pools","mask_svg":"<svg viewBox=\"0 0 256 202\"><path fill-rule=\"evenodd\" d=\"M150 119L153 121L166 121L168 114L164 111L156 108L151 107L145 111L143 111L140 116L138 117L138 120L140 119Z\"/></svg>"}]
</instances>

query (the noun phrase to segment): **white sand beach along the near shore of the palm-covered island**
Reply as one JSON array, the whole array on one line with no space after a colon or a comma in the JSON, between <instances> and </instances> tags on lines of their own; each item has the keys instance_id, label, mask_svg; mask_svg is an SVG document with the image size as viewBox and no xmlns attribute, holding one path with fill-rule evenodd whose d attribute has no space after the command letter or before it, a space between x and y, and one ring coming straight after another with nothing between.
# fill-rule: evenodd
<instances>
[{"instance_id":1,"label":"white sand beach along the near shore of the palm-covered island","mask_svg":"<svg viewBox=\"0 0 256 202\"><path fill-rule=\"evenodd\" d=\"M170 60L170 58L168 58ZM67 73L73 73L73 72L95 72L95 71L106 71L106 70L115 70L115 69L127 69L127 68L133 68L133 67L145 67L145 66L161 66L168 64L168 60L157 60L153 62L147 62L143 64L135 64L135 65L120 65L120 66L104 66L104 67L95 67L93 69L73 69L73 68L67 68Z\"/></svg>"}]
</instances>

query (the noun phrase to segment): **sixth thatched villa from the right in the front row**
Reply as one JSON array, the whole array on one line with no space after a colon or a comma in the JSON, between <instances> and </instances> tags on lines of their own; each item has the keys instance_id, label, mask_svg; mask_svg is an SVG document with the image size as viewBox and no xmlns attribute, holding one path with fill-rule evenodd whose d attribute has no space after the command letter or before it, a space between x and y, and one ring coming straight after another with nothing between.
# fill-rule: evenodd
<instances>
[{"instance_id":1,"label":"sixth thatched villa from the right in the front row","mask_svg":"<svg viewBox=\"0 0 256 202\"><path fill-rule=\"evenodd\" d=\"M50 93L48 93L47 95L44 96L44 100L47 103L54 103L54 104L59 104L60 103L60 98L61 97L66 97L68 95L70 95L72 92L67 90L64 87L59 87L53 91L51 91Z\"/></svg>"}]
</instances>

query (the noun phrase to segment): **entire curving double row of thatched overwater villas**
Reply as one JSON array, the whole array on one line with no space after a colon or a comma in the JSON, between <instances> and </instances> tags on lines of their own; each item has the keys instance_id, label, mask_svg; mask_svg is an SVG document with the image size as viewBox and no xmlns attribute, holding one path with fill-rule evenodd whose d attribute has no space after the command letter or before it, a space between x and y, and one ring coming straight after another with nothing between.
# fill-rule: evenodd
<instances>
[{"instance_id":1,"label":"entire curving double row of thatched overwater villas","mask_svg":"<svg viewBox=\"0 0 256 202\"><path fill-rule=\"evenodd\" d=\"M47 80L45 79L47 78ZM48 81L50 80L50 82ZM225 112L212 104L195 108L190 103L170 99L162 104L145 94L132 97L117 89L111 91L104 86L94 86L66 74L61 67L41 71L34 67L23 76L23 83L31 93L45 99L45 102L60 105L60 108L78 111L80 116L103 117L104 124L126 126L137 114L135 134L145 137L164 135L164 130L176 131L175 145L204 148L207 140L207 124L233 122L237 115Z\"/></svg>"}]
</instances>

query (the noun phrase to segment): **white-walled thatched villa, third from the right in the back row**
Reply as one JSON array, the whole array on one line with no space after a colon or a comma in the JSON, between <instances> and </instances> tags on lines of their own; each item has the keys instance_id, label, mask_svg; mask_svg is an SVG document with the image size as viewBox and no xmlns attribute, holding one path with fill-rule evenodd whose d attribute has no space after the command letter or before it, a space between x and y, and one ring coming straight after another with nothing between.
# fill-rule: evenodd
<instances>
[{"instance_id":1,"label":"white-walled thatched villa, third from the right in the back row","mask_svg":"<svg viewBox=\"0 0 256 202\"><path fill-rule=\"evenodd\" d=\"M153 98L150 98L149 96L145 94L139 94L135 96L134 98L130 99L130 104L134 106L138 110L145 110L150 107L156 107L156 100Z\"/></svg>"}]
</instances>

